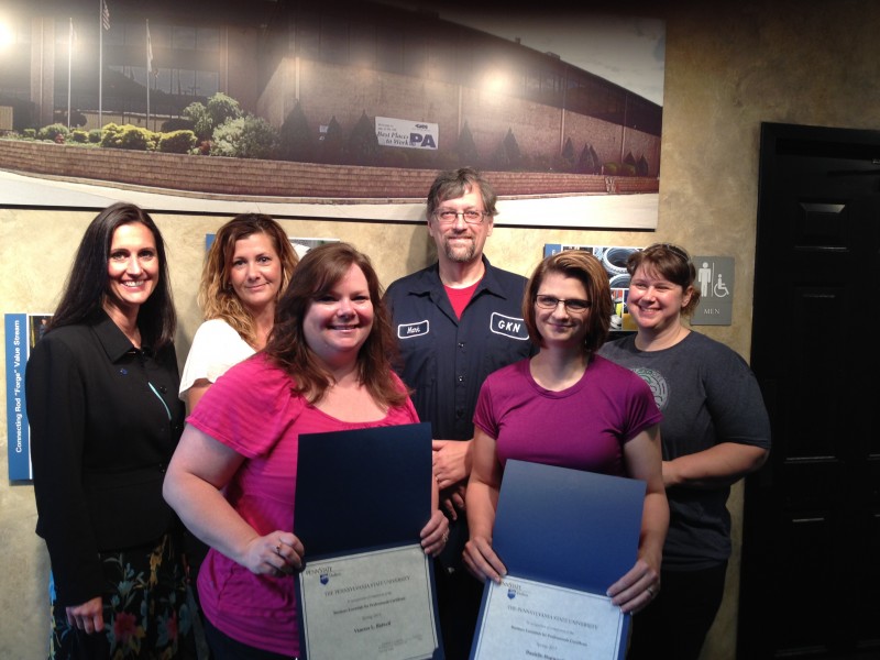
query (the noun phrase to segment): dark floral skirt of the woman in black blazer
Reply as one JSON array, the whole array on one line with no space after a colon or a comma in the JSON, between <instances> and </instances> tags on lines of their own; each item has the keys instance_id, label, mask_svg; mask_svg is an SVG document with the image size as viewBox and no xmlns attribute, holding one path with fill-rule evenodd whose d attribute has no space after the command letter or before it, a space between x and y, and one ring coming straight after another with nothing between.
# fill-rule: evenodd
<instances>
[{"instance_id":1,"label":"dark floral skirt of the woman in black blazer","mask_svg":"<svg viewBox=\"0 0 880 660\"><path fill-rule=\"evenodd\" d=\"M166 534L153 547L101 552L103 631L87 635L67 623L50 581L50 660L195 659L191 610L180 540Z\"/></svg>"}]
</instances>

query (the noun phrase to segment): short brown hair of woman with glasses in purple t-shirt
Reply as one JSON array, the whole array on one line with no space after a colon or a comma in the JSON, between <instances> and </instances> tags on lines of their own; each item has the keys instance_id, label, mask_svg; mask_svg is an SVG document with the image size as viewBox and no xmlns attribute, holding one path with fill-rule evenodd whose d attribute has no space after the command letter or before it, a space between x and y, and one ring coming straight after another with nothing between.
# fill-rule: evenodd
<instances>
[{"instance_id":1,"label":"short brown hair of woman with glasses in purple t-shirt","mask_svg":"<svg viewBox=\"0 0 880 660\"><path fill-rule=\"evenodd\" d=\"M574 277L584 285L586 298L590 300L590 314L586 319L586 336L581 349L584 355L590 355L605 343L612 323L614 306L612 289L608 286L608 274L595 256L583 250L563 250L538 264L526 285L526 294L522 297L522 318L532 343L540 346L543 345L543 338L538 332L535 299L543 278L549 273Z\"/></svg>"}]
</instances>

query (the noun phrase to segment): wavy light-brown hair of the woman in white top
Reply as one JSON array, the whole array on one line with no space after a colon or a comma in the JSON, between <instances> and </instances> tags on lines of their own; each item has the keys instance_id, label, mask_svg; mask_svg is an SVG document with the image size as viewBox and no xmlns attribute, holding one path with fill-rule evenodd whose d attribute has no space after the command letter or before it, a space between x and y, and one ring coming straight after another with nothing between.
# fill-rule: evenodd
<instances>
[{"instance_id":1,"label":"wavy light-brown hair of the woman in white top","mask_svg":"<svg viewBox=\"0 0 880 660\"><path fill-rule=\"evenodd\" d=\"M268 237L282 263L276 302L287 288L299 257L282 227L263 213L241 213L217 230L201 271L198 301L206 320L222 319L241 338L256 348L256 326L248 309L229 283L235 243L255 233Z\"/></svg>"}]
</instances>

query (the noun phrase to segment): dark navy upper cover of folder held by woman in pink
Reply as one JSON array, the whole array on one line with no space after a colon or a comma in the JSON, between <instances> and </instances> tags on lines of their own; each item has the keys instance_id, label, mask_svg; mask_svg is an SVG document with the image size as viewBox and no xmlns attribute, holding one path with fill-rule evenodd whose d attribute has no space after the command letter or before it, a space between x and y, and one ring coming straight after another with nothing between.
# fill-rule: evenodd
<instances>
[{"instance_id":1,"label":"dark navy upper cover of folder held by woman in pink","mask_svg":"<svg viewBox=\"0 0 880 660\"><path fill-rule=\"evenodd\" d=\"M432 479L430 424L301 435L294 534L306 559L418 542Z\"/></svg>"}]
</instances>

